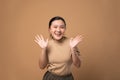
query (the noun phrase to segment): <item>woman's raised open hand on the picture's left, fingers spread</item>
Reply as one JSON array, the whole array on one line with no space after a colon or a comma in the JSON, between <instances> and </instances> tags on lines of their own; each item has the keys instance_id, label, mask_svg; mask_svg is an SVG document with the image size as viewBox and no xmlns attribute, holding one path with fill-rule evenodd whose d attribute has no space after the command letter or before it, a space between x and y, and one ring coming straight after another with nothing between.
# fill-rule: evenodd
<instances>
[{"instance_id":1,"label":"woman's raised open hand on the picture's left, fingers spread","mask_svg":"<svg viewBox=\"0 0 120 80\"><path fill-rule=\"evenodd\" d=\"M43 49L48 45L48 39L45 41L42 35L36 35L34 41Z\"/></svg>"}]
</instances>

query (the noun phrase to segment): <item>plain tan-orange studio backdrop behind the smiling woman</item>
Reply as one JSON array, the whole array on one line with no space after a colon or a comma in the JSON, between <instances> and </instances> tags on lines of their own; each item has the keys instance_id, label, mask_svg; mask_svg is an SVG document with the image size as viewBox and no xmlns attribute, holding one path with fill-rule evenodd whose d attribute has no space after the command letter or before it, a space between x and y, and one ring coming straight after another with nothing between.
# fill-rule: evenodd
<instances>
[{"instance_id":1,"label":"plain tan-orange studio backdrop behind the smiling woman","mask_svg":"<svg viewBox=\"0 0 120 80\"><path fill-rule=\"evenodd\" d=\"M75 80L120 80L119 0L0 0L0 80L41 80L36 34L49 36L53 16L65 18L68 37L83 34Z\"/></svg>"}]
</instances>

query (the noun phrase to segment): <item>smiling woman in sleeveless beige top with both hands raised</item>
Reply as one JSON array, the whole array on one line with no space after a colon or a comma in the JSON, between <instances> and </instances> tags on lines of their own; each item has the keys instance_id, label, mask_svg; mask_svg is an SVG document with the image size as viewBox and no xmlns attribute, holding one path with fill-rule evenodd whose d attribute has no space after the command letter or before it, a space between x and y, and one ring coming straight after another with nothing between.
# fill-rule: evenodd
<instances>
[{"instance_id":1,"label":"smiling woman in sleeveless beige top with both hands raised","mask_svg":"<svg viewBox=\"0 0 120 80\"><path fill-rule=\"evenodd\" d=\"M47 67L48 70L43 80L74 80L71 65L80 67L77 44L82 41L82 36L69 39L64 36L65 31L65 20L56 16L49 22L50 39L44 40L42 35L35 37L35 42L42 48L40 69Z\"/></svg>"}]
</instances>

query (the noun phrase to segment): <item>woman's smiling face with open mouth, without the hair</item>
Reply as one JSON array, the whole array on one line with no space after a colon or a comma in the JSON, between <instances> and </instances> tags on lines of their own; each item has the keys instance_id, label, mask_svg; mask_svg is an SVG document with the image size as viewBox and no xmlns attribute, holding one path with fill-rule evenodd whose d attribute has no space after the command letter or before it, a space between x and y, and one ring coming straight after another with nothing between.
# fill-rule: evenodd
<instances>
[{"instance_id":1,"label":"woman's smiling face with open mouth, without the hair","mask_svg":"<svg viewBox=\"0 0 120 80\"><path fill-rule=\"evenodd\" d=\"M63 37L65 30L66 27L62 20L53 21L49 28L49 32L55 40L60 40Z\"/></svg>"}]
</instances>

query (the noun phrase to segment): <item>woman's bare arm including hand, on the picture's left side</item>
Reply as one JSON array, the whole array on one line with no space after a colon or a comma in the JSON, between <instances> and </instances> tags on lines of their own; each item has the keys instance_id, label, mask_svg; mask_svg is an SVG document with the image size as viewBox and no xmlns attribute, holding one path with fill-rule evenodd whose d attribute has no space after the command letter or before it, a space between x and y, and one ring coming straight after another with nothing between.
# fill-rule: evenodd
<instances>
[{"instance_id":1,"label":"woman's bare arm including hand, on the picture's left side","mask_svg":"<svg viewBox=\"0 0 120 80\"><path fill-rule=\"evenodd\" d=\"M39 59L39 67L40 69L44 69L48 64L48 55L47 55L47 45L48 39L45 41L42 35L35 36L35 42L42 48L42 52L40 54Z\"/></svg>"}]
</instances>

